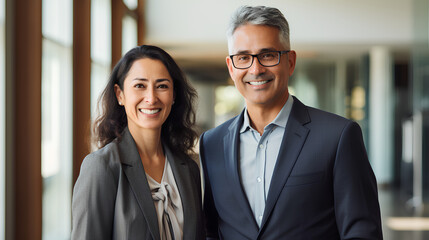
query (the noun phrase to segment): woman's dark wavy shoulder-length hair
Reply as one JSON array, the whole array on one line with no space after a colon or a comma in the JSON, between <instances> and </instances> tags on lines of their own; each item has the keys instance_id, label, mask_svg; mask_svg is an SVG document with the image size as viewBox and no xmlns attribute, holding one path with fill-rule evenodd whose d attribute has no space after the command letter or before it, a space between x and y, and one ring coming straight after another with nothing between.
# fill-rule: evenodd
<instances>
[{"instance_id":1,"label":"woman's dark wavy shoulder-length hair","mask_svg":"<svg viewBox=\"0 0 429 240\"><path fill-rule=\"evenodd\" d=\"M194 129L194 102L197 92L186 79L173 58L156 46L142 45L128 51L113 68L109 82L98 100L101 114L94 122L94 141L99 148L104 147L121 134L127 126L125 108L118 104L114 86L123 90L124 81L136 60L149 58L161 61L173 79L175 94L170 115L161 129L161 140L176 154L191 156L198 135Z\"/></svg>"}]
</instances>

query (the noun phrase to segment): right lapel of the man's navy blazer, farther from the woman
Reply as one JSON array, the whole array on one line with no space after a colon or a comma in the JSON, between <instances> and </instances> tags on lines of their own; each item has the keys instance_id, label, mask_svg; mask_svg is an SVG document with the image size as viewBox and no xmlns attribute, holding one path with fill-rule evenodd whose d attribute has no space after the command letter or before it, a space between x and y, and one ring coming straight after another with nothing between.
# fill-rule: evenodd
<instances>
[{"instance_id":1,"label":"right lapel of the man's navy blazer, farther from the woman","mask_svg":"<svg viewBox=\"0 0 429 240\"><path fill-rule=\"evenodd\" d=\"M308 122L310 122L310 117L308 115L307 108L298 99L294 98L294 104L286 125L276 166L271 178L261 229L271 214L277 199L290 176L299 153L304 146L310 130L303 125Z\"/></svg>"}]
</instances>

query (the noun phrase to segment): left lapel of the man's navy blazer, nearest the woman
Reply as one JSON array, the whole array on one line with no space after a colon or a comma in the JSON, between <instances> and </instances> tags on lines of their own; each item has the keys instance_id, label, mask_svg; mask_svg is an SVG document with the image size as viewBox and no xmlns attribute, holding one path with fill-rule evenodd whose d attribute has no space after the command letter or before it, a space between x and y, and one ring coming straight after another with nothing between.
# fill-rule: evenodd
<instances>
[{"instance_id":1,"label":"left lapel of the man's navy blazer, nearest the woman","mask_svg":"<svg viewBox=\"0 0 429 240\"><path fill-rule=\"evenodd\" d=\"M238 151L240 149L239 131L241 123L243 122L243 114L245 114L244 111L241 112L241 114L231 123L228 128L228 134L223 139L226 176L228 178L228 182L231 183L232 192L235 193L234 196L237 198L236 203L246 214L247 218L249 218L249 221L253 223L253 229L258 229L259 227L253 216L249 201L244 193L240 176L238 174Z\"/></svg>"}]
</instances>

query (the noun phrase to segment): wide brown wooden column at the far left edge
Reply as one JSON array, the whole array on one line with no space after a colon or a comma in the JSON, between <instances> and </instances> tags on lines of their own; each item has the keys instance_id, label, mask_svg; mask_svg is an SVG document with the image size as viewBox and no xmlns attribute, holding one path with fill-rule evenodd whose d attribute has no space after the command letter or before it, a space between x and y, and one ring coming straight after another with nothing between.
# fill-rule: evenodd
<instances>
[{"instance_id":1,"label":"wide brown wooden column at the far left edge","mask_svg":"<svg viewBox=\"0 0 429 240\"><path fill-rule=\"evenodd\" d=\"M38 240L42 238L42 175L41 175L41 83L42 83L42 0L8 1L14 4L12 14L12 41L6 44L13 50L14 59L8 75L8 87L13 95L14 109L8 118L7 127L12 126L13 159L13 215L14 226L6 231L13 231L13 239ZM11 25L8 23L8 28ZM12 76L13 78L10 78ZM10 103L7 103L8 105ZM12 121L12 122L10 122ZM9 179L9 178L8 178ZM11 187L8 184L8 187ZM8 191L10 193L11 191ZM10 200L8 198L8 200ZM10 206L9 203L6 203ZM8 217L10 219L10 217ZM10 224L8 224L10 226ZM11 236L10 233L7 233Z\"/></svg>"}]
</instances>

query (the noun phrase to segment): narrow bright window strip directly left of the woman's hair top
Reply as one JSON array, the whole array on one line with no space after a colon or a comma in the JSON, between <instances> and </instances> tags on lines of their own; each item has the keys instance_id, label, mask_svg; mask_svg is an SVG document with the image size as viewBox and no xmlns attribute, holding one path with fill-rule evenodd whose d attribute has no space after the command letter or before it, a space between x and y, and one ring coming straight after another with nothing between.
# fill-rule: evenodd
<instances>
[{"instance_id":1,"label":"narrow bright window strip directly left of the woman's hair top","mask_svg":"<svg viewBox=\"0 0 429 240\"><path fill-rule=\"evenodd\" d=\"M110 0L91 1L91 118L110 75L112 27Z\"/></svg>"}]
</instances>

